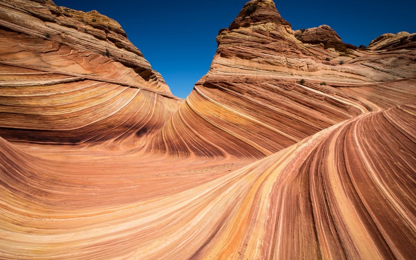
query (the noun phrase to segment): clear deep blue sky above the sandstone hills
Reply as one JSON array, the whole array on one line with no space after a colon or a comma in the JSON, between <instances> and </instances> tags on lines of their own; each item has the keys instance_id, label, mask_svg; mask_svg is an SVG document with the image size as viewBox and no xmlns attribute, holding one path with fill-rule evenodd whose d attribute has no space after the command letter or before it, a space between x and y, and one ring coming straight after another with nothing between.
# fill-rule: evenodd
<instances>
[{"instance_id":1,"label":"clear deep blue sky above the sandstone hills","mask_svg":"<svg viewBox=\"0 0 416 260\"><path fill-rule=\"evenodd\" d=\"M186 98L210 68L215 38L248 0L142 1L55 0L58 6L117 20L128 39L160 72L173 94ZM343 42L368 45L387 32L416 32L416 1L278 1L293 29L331 26Z\"/></svg>"}]
</instances>

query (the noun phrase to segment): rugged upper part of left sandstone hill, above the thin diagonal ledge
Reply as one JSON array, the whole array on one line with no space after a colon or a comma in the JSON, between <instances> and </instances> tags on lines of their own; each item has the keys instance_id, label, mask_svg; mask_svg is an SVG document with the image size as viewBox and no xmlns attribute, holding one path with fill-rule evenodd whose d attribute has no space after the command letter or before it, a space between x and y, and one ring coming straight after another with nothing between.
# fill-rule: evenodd
<instances>
[{"instance_id":1,"label":"rugged upper part of left sandstone hill, above the thin diagonal ledge","mask_svg":"<svg viewBox=\"0 0 416 260\"><path fill-rule=\"evenodd\" d=\"M50 0L0 1L0 21L3 64L147 86L170 94L120 24L97 11L58 7Z\"/></svg>"}]
</instances>

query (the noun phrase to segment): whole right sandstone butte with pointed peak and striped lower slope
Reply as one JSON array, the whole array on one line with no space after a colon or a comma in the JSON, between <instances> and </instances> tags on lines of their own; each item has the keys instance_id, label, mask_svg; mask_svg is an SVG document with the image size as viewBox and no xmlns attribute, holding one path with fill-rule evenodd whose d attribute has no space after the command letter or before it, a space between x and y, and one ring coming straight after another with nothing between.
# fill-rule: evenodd
<instances>
[{"instance_id":1,"label":"whole right sandstone butte with pointed peak and striped lower slope","mask_svg":"<svg viewBox=\"0 0 416 260\"><path fill-rule=\"evenodd\" d=\"M244 16L253 6L257 9ZM310 31L326 32L314 38ZM349 49L328 26L304 34L308 43L295 37L271 1L246 4L230 28L219 32L210 71L148 148L209 156L228 150L262 158L341 121L416 98L414 49ZM325 41L342 50L320 44ZM203 138L184 137L193 124L206 133ZM183 139L187 145L169 145Z\"/></svg>"}]
</instances>

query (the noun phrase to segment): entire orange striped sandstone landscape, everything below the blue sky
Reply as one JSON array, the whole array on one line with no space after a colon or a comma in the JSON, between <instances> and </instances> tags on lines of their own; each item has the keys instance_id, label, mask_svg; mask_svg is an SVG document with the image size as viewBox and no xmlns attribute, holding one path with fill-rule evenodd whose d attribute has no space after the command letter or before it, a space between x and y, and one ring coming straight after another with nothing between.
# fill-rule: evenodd
<instances>
[{"instance_id":1,"label":"entire orange striped sandstone landscape, everything below the blue sky","mask_svg":"<svg viewBox=\"0 0 416 260\"><path fill-rule=\"evenodd\" d=\"M414 34L253 0L185 101L96 11L0 0L0 36L0 258L416 253Z\"/></svg>"}]
</instances>

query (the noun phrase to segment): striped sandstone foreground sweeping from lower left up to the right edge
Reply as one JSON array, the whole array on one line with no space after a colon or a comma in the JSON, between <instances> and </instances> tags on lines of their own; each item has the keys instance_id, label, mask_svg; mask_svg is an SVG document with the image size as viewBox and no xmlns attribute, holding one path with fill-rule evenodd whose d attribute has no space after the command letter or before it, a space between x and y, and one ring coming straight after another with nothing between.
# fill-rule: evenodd
<instances>
[{"instance_id":1,"label":"striped sandstone foreground sweeping from lower left up to the right edge","mask_svg":"<svg viewBox=\"0 0 416 260\"><path fill-rule=\"evenodd\" d=\"M142 191L137 194L137 199L131 200L128 197L134 193L120 190L127 196L122 199L125 203L120 203L119 198L85 208L86 202L95 201L96 196L92 193L79 193L78 196L83 194L85 197L83 202L75 198L56 200L65 198L66 192L74 194L72 189L83 189L68 185L76 179L55 177L54 183L50 184L38 181L45 185L44 188L38 186L38 191L47 186L56 187L58 182L64 186L60 194L52 190L50 193L47 189L46 193L26 190L32 194L34 203L33 207L28 204L24 213L26 231L17 232L21 224L7 224L3 232L7 230L9 236L4 245L14 259L36 255L30 250L34 248L41 250L45 259L131 258L134 255L143 259L409 257L414 253L414 235L411 235L414 234L414 197L409 195L414 182L414 164L411 162L414 162L416 147L409 143L407 136L414 138L414 130L407 132L409 128L396 128L397 125L390 122L414 120L412 113L414 106L406 106L355 117L252 165L226 171L227 174L219 171L219 175L205 179L203 183L192 182L188 188L174 191L168 197L148 194L138 199ZM373 131L368 131L368 127ZM5 148L7 144L2 141L2 145ZM395 149L386 152L386 147L392 145ZM30 158L32 163L26 164L24 158L28 155L11 147L4 151L8 156L1 157L2 166L5 159L10 161L17 156L21 158L20 166L39 169L36 159L34 164L34 158ZM403 154L410 157L403 157ZM122 157L116 160L118 165L128 166L128 160ZM176 164L172 162L171 167ZM9 167L14 165L8 164ZM46 162L46 165L50 166L50 163ZM44 173L48 171L44 169ZM128 172L119 171L119 176L127 177ZM185 175L180 172L172 177L160 176L158 182L179 178L182 181L174 185L181 186L185 184ZM201 174L207 177L198 173ZM150 181L149 177L143 180ZM94 178L102 177L96 175ZM115 181L107 180L106 185L116 187ZM22 180L23 183L26 181ZM137 180L130 180L130 183L144 185ZM88 185L97 185L97 182ZM105 192L107 196L112 194L108 188L99 192ZM14 207L17 212L10 211L20 193L9 195L11 203L3 211L13 214L14 219L23 217L16 217L16 214L23 214L19 206ZM25 197L23 193L17 201ZM42 203L48 200L56 202ZM40 211L41 208L45 211ZM71 229L59 226L71 226ZM400 229L400 232L391 229ZM204 232L198 232L201 230ZM34 236L37 236L36 244ZM80 237L83 239L77 239ZM27 246L16 247L16 243L23 240L27 241ZM120 244L120 241L125 243Z\"/></svg>"}]
</instances>

